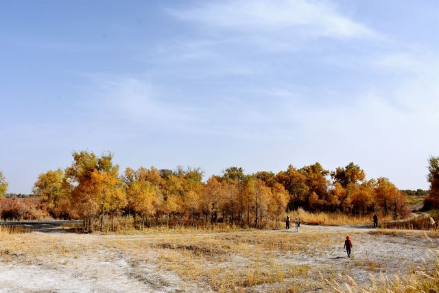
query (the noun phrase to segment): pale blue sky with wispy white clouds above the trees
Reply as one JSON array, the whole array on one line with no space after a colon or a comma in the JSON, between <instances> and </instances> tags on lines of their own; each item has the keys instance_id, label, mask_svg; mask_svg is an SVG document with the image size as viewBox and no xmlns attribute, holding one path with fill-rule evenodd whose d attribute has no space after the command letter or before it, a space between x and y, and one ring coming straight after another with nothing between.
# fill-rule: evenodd
<instances>
[{"instance_id":1,"label":"pale blue sky with wispy white clouds above the trees","mask_svg":"<svg viewBox=\"0 0 439 293\"><path fill-rule=\"evenodd\" d=\"M0 1L0 170L360 165L428 188L439 1Z\"/></svg>"}]
</instances>

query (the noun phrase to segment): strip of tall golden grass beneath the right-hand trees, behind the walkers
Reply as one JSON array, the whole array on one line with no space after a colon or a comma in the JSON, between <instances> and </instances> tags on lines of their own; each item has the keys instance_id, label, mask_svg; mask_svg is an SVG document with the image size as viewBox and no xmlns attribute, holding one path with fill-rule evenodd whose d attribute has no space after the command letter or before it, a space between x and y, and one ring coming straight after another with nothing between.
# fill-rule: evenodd
<instances>
[{"instance_id":1,"label":"strip of tall golden grass beneath the right-hand trees, behind the walkers","mask_svg":"<svg viewBox=\"0 0 439 293\"><path fill-rule=\"evenodd\" d=\"M290 214L292 218L292 225L294 226L294 218L299 217L300 222L311 224L311 225L327 225L327 226L338 226L338 225L372 225L372 215L346 215L344 213L325 213L325 212L309 212L303 209L298 209ZM286 218L286 215L285 215ZM389 221L392 218L380 217L379 221Z\"/></svg>"}]
</instances>

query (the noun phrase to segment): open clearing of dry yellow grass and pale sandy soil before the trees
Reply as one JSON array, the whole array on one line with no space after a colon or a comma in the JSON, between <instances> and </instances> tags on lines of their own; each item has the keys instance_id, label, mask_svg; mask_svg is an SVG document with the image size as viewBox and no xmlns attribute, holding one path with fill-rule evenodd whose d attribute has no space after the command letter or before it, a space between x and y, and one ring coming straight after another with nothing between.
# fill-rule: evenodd
<instances>
[{"instance_id":1,"label":"open clearing of dry yellow grass and pale sandy soil before the trees","mask_svg":"<svg viewBox=\"0 0 439 293\"><path fill-rule=\"evenodd\" d=\"M324 279L342 284L350 276L367 287L370 274L432 270L439 248L434 233L348 226L303 225L300 233L61 232L1 234L0 292L333 292ZM346 235L351 259L343 250Z\"/></svg>"}]
</instances>

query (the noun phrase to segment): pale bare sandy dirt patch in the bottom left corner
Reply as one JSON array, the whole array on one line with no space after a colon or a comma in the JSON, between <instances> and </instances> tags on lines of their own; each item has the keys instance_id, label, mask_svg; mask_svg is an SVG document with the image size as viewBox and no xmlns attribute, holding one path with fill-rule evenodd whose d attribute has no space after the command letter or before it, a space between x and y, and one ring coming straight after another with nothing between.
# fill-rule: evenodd
<instances>
[{"instance_id":1,"label":"pale bare sandy dirt patch in the bottom left corner","mask_svg":"<svg viewBox=\"0 0 439 293\"><path fill-rule=\"evenodd\" d=\"M102 251L62 266L0 263L0 292L181 292L181 279L154 263L133 269L121 253Z\"/></svg>"}]
</instances>

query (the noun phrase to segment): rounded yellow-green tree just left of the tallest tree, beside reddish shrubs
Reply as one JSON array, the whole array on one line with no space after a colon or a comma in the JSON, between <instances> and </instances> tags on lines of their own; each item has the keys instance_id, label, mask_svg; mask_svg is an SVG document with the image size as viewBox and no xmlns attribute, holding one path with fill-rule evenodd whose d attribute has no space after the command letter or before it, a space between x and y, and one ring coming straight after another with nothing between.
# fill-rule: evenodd
<instances>
[{"instance_id":1,"label":"rounded yellow-green tree just left of the tallest tree, beside reddish shrubs","mask_svg":"<svg viewBox=\"0 0 439 293\"><path fill-rule=\"evenodd\" d=\"M48 212L54 218L69 213L66 209L69 194L67 193L68 189L64 187L65 184L66 178L62 169L49 170L38 175L32 189L34 196L47 204Z\"/></svg>"}]
</instances>

